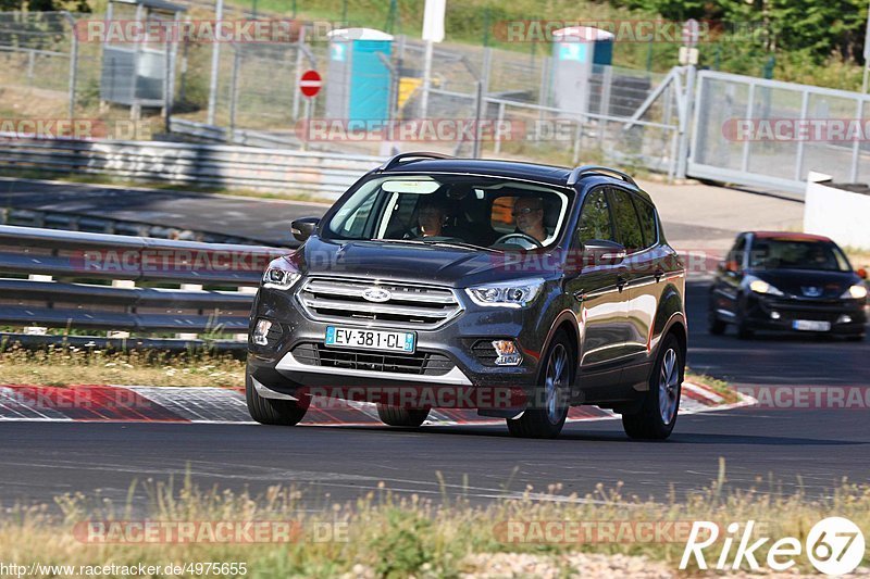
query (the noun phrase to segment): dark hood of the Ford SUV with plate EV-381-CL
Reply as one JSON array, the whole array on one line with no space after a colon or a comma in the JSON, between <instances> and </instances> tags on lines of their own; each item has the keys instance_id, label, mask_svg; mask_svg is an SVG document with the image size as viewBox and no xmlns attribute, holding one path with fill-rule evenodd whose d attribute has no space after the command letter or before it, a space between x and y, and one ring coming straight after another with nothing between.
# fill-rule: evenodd
<instances>
[{"instance_id":1,"label":"dark hood of the Ford SUV with plate EV-381-CL","mask_svg":"<svg viewBox=\"0 0 870 579\"><path fill-rule=\"evenodd\" d=\"M311 237L297 252L299 257L300 269L309 275L413 280L449 287L545 277L540 267L515 267L517 254L394 241L327 241Z\"/></svg>"}]
</instances>

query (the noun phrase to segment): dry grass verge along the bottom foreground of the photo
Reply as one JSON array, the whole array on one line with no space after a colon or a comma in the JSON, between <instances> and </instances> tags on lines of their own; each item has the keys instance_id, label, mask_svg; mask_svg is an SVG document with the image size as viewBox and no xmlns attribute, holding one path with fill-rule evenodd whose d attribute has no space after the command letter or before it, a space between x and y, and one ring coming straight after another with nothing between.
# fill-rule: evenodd
<instances>
[{"instance_id":1,"label":"dry grass verge along the bottom foreground of the photo","mask_svg":"<svg viewBox=\"0 0 870 579\"><path fill-rule=\"evenodd\" d=\"M99 495L66 495L58 508L15 507L0 515L0 561L42 564L94 565L114 563L165 565L183 562L245 562L252 577L336 577L351 572L369 577L457 577L480 571L493 557L481 554L525 553L552 559L570 553L643 556L675 570L684 542L612 542L545 544L505 542L497 528L508 521L693 521L710 520L721 526L747 520L759 523L763 537L796 537L804 542L812 525L828 516L852 519L870 527L870 487L843 483L823 499L798 491L782 494L775 486L758 481L755 490L728 490L724 463L719 479L701 492L671 496L664 502L625 496L620 487L577 496L561 493L558 484L546 489L561 501L539 501L533 489L518 498L487 506L474 506L460 495L445 492L437 502L417 495L399 498L388 489L349 504L331 504L321 495L320 508L304 503L304 490L272 488L263 495L202 490L185 480L181 486L149 481L134 491L145 491L147 506L114 504ZM179 488L178 488L179 487ZM195 542L187 544L86 544L73 536L76 523L99 520L151 521L252 521L293 520L300 525L297 541L282 543ZM328 525L345 539L316 541L311 531ZM709 547L708 561L717 559L720 541ZM769 541L756 554L763 561ZM733 555L733 552L732 552ZM472 561L473 559L473 561ZM806 556L796 557L810 570ZM865 557L867 564L867 556ZM570 575L607 576L591 569L563 568ZM610 569L610 572L617 572ZM160 572L157 577L163 577Z\"/></svg>"}]
</instances>

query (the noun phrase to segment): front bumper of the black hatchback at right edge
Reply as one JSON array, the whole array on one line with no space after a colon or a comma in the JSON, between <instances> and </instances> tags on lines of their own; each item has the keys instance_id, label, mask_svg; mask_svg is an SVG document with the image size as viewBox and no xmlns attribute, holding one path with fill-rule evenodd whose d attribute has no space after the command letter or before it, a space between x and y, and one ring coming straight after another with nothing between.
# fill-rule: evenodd
<instances>
[{"instance_id":1,"label":"front bumper of the black hatchback at right edge","mask_svg":"<svg viewBox=\"0 0 870 579\"><path fill-rule=\"evenodd\" d=\"M751 328L812 333L795 322L823 322L819 333L857 336L867 331L867 304L861 300L796 300L753 293L746 298L744 322Z\"/></svg>"}]
</instances>

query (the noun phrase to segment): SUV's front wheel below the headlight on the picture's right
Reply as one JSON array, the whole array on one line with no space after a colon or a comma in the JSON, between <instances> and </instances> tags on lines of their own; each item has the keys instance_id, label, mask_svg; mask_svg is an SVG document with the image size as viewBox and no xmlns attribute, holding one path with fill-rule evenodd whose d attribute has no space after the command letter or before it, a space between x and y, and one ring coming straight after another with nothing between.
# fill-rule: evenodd
<instances>
[{"instance_id":1,"label":"SUV's front wheel below the headlight on the picture's right","mask_svg":"<svg viewBox=\"0 0 870 579\"><path fill-rule=\"evenodd\" d=\"M571 383L574 378L574 356L564 333L552 340L542 360L540 374L531 407L519 418L508 419L508 431L521 438L556 438L568 418Z\"/></svg>"}]
</instances>

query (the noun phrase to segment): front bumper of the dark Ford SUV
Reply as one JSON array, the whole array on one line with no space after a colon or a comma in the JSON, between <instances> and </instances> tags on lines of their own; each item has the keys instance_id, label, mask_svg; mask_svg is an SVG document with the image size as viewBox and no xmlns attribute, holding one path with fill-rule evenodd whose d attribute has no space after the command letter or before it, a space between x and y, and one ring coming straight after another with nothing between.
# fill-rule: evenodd
<instances>
[{"instance_id":1,"label":"front bumper of the dark Ford SUV","mask_svg":"<svg viewBox=\"0 0 870 579\"><path fill-rule=\"evenodd\" d=\"M276 329L266 345L249 339L248 373L256 383L283 395L295 395L306 387L494 387L531 392L549 329L538 328L544 302L539 299L527 309L509 309L473 307L463 301L463 312L436 329L403 328L417 332L417 345L413 356L401 357L403 354L326 349L323 343L327 326L396 328L378 327L376 323L315 320L303 313L293 291L261 289L254 300L251 325L265 318ZM522 362L496 366L482 356L481 343L495 339L515 341ZM355 360L335 363L336 352L349 352L348 357ZM411 365L412 360L420 365L417 370L399 365L406 361Z\"/></svg>"}]
</instances>

